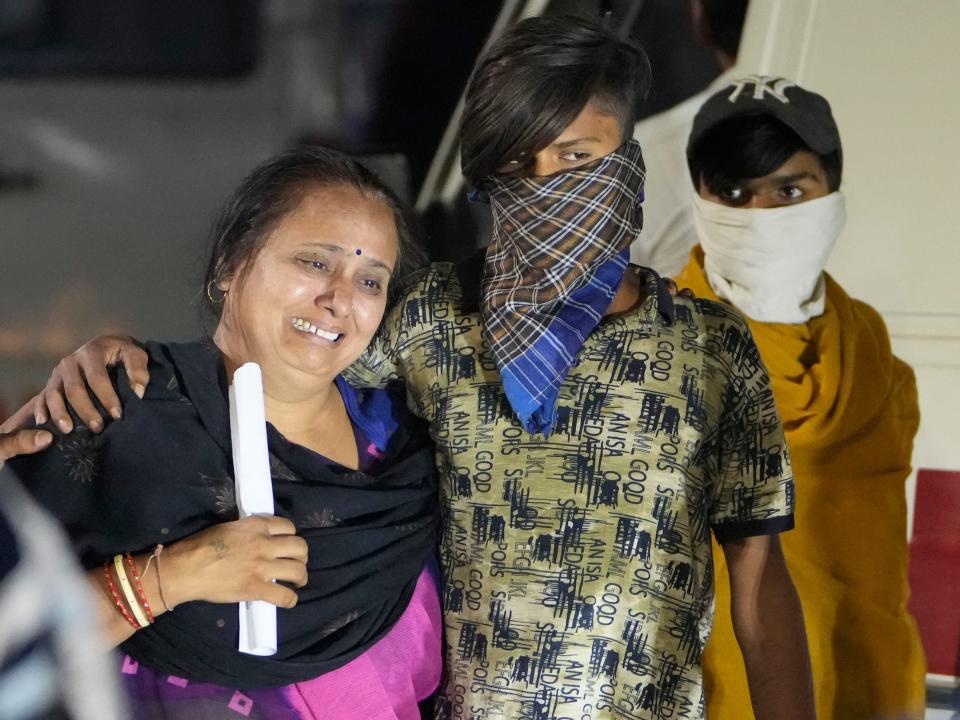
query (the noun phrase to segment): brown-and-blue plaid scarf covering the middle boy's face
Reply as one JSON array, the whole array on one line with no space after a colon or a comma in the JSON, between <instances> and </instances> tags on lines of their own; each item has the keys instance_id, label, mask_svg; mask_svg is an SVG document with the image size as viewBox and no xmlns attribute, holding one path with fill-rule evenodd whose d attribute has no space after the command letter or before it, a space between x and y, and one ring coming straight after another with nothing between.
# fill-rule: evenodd
<instances>
[{"instance_id":1,"label":"brown-and-blue plaid scarf covering the middle boy's face","mask_svg":"<svg viewBox=\"0 0 960 720\"><path fill-rule=\"evenodd\" d=\"M643 180L629 140L570 172L484 184L494 222L484 337L527 432L552 431L560 385L620 287L643 225Z\"/></svg>"}]
</instances>

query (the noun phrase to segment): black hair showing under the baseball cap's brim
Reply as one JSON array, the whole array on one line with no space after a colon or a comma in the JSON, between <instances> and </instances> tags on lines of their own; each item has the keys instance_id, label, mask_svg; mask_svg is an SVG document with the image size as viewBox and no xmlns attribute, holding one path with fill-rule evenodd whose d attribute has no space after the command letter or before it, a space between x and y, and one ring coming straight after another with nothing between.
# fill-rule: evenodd
<instances>
[{"instance_id":1,"label":"black hair showing under the baseball cap's brim","mask_svg":"<svg viewBox=\"0 0 960 720\"><path fill-rule=\"evenodd\" d=\"M694 187L702 182L717 194L743 180L769 175L801 150L813 152L800 136L770 115L740 115L717 123L703 134L687 159ZM840 187L840 154L820 159L830 192Z\"/></svg>"}]
</instances>

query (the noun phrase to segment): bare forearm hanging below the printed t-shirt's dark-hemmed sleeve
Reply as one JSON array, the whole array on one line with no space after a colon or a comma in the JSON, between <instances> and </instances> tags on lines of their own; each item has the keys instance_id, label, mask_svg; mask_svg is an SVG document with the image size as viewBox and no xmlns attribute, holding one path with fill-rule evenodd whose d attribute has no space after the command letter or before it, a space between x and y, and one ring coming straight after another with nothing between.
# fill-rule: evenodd
<instances>
[{"instance_id":1,"label":"bare forearm hanging below the printed t-shirt's dark-hemmed sleeve","mask_svg":"<svg viewBox=\"0 0 960 720\"><path fill-rule=\"evenodd\" d=\"M764 557L749 562L753 571L741 571L737 578L736 563L730 564L731 613L754 715L757 720L812 720L816 712L803 612L779 543L774 539Z\"/></svg>"}]
</instances>

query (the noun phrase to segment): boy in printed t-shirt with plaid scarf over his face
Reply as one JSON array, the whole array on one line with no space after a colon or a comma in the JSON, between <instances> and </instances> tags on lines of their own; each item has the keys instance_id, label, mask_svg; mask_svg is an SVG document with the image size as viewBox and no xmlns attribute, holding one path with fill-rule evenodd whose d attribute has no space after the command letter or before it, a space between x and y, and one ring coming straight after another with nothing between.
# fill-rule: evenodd
<instances>
[{"instance_id":1,"label":"boy in printed t-shirt with plaid scarf over his face","mask_svg":"<svg viewBox=\"0 0 960 720\"><path fill-rule=\"evenodd\" d=\"M647 82L642 52L588 21L533 18L494 43L462 125L491 245L412 280L350 372L402 377L436 442L440 718L702 717L711 529L758 715L812 717L777 540L791 472L756 346L728 306L627 265ZM105 345L81 354L95 390Z\"/></svg>"}]
</instances>

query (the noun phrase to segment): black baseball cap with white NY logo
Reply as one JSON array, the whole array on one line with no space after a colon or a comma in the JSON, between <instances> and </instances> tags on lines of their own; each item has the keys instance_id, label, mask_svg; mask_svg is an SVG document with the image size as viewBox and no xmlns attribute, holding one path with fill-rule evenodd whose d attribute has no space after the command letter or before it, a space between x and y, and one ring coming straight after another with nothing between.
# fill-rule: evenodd
<instances>
[{"instance_id":1,"label":"black baseball cap with white NY logo","mask_svg":"<svg viewBox=\"0 0 960 720\"><path fill-rule=\"evenodd\" d=\"M771 115L818 155L834 151L840 155L840 131L826 98L786 78L748 75L711 95L697 111L687 141L687 157L708 130L744 115Z\"/></svg>"}]
</instances>

